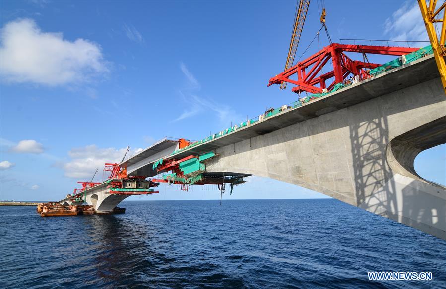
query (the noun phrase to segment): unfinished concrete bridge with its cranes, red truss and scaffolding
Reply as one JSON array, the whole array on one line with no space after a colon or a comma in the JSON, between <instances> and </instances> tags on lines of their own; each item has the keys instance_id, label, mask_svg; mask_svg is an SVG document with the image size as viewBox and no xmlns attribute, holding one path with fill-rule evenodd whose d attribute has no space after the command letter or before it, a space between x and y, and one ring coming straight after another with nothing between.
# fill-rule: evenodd
<instances>
[{"instance_id":1,"label":"unfinished concrete bridge with its cranes, red truss and scaffolding","mask_svg":"<svg viewBox=\"0 0 446 289\"><path fill-rule=\"evenodd\" d=\"M446 25L440 39L429 33L428 22L438 16L435 4L420 3L422 14L431 11L425 13L431 45L330 39L328 46L294 64L309 2L299 2L285 70L268 83L294 85L296 101L198 141L166 137L120 163L106 163L104 182L79 182L82 188L59 202L41 204L38 211L42 216L123 213L117 206L125 198L158 193L164 183L184 191L215 185L221 194L232 194L246 177L258 175L321 192L446 240L446 189L420 177L413 166L418 153L446 143ZM324 10L321 23L326 29ZM362 60L355 60L355 53ZM371 54L395 58L372 63Z\"/></svg>"}]
</instances>

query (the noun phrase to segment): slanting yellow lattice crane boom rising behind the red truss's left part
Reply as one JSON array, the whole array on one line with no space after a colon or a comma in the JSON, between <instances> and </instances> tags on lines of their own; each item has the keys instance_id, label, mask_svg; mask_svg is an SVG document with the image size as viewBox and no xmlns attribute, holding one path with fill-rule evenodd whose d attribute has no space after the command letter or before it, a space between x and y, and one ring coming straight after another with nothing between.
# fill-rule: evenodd
<instances>
[{"instance_id":1,"label":"slanting yellow lattice crane boom rising behind the red truss's left part","mask_svg":"<svg viewBox=\"0 0 446 289\"><path fill-rule=\"evenodd\" d=\"M296 56L297 46L299 44L299 39L301 38L302 28L304 28L305 18L307 17L308 6L310 5L310 0L300 0L299 8L296 14L296 20L294 22L293 34L291 35L290 49L288 50L288 56L286 59L285 70L287 71L293 66L294 57ZM286 88L286 82L280 84L280 89Z\"/></svg>"}]
</instances>

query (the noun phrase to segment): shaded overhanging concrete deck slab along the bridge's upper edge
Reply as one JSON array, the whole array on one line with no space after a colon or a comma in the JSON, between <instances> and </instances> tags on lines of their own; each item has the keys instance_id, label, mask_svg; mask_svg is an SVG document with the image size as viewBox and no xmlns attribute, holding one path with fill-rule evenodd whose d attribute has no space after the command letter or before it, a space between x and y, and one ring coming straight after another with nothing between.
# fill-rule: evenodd
<instances>
[{"instance_id":1,"label":"shaded overhanging concrete deck slab along the bridge's upper edge","mask_svg":"<svg viewBox=\"0 0 446 289\"><path fill-rule=\"evenodd\" d=\"M277 115L258 121L249 126L239 128L227 135L199 144L190 149L183 150L174 155L170 154L174 152L175 145L168 147L168 149L164 151L156 150L158 154L154 155L154 158L151 157L150 161L147 161L147 158L141 158L141 154L138 154L124 161L120 166L127 167L128 175L155 176L156 171L152 169L152 165L161 158L183 158L191 154L199 155L206 153L229 144L264 135L434 78L438 78L438 70L433 55L430 55L399 68L379 74L373 78L352 84L342 90L305 103L301 107L287 109ZM151 147L146 150L149 150L150 148ZM167 146L164 148L167 148Z\"/></svg>"}]
</instances>

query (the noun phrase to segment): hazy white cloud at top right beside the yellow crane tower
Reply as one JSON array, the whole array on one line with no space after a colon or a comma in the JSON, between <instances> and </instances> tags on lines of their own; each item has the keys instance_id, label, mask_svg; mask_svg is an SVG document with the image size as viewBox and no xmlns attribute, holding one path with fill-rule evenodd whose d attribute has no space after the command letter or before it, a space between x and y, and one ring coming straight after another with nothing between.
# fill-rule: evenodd
<instances>
[{"instance_id":1,"label":"hazy white cloud at top right beside the yellow crane tower","mask_svg":"<svg viewBox=\"0 0 446 289\"><path fill-rule=\"evenodd\" d=\"M393 12L384 22L384 34L391 40L429 40L418 3L405 2Z\"/></svg>"}]
</instances>

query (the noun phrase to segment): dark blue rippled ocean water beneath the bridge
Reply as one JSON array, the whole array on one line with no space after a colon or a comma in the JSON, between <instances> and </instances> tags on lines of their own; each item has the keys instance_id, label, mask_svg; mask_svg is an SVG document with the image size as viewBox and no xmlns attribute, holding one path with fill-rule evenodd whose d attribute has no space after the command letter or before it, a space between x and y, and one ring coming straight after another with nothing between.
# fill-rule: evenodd
<instances>
[{"instance_id":1,"label":"dark blue rippled ocean water beneath the bridge","mask_svg":"<svg viewBox=\"0 0 446 289\"><path fill-rule=\"evenodd\" d=\"M74 217L0 206L0 288L446 287L445 241L334 199L120 206Z\"/></svg>"}]
</instances>

